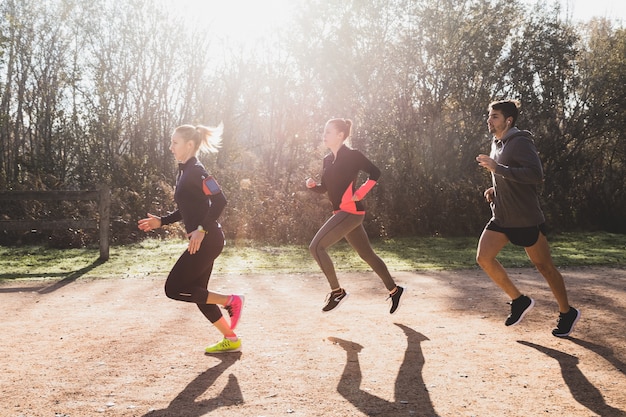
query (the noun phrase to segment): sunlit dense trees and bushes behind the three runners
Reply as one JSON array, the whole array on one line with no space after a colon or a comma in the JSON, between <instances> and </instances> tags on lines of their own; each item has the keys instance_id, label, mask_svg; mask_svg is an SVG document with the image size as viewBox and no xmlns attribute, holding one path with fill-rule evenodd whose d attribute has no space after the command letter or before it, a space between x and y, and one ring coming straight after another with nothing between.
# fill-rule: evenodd
<instances>
[{"instance_id":1,"label":"sunlit dense trees and bushes behind the three runners","mask_svg":"<svg viewBox=\"0 0 626 417\"><path fill-rule=\"evenodd\" d=\"M169 151L183 123L224 123L201 160L229 200L228 239L305 243L330 205L321 131L354 120L351 144L383 171L371 236L477 235L489 217L487 105L522 102L556 231L626 233L626 31L516 0L302 0L246 42L173 2L0 0L0 189L112 193L112 240L142 239L174 209ZM2 203L3 219L93 216L89 203ZM80 246L90 231L2 232L0 244ZM180 235L179 226L153 232Z\"/></svg>"}]
</instances>

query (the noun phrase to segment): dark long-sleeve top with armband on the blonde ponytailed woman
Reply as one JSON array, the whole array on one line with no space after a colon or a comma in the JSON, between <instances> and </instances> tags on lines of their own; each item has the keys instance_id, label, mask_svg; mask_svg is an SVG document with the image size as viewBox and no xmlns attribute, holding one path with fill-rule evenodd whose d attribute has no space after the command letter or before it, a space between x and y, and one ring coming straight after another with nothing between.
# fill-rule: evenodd
<instances>
[{"instance_id":1,"label":"dark long-sleeve top with armband on the blonde ponytailed woman","mask_svg":"<svg viewBox=\"0 0 626 417\"><path fill-rule=\"evenodd\" d=\"M178 165L179 172L174 191L174 201L178 209L161 217L166 225L182 220L187 233L202 226L205 230L219 227L217 219L226 207L226 197L220 190L212 195L205 194L202 182L209 174L196 157Z\"/></svg>"}]
</instances>

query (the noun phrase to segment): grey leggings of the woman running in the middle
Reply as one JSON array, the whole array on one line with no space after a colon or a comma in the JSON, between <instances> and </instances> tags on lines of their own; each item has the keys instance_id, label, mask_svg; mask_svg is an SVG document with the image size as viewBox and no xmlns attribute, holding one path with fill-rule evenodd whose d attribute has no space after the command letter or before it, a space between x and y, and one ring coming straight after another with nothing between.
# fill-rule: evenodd
<instances>
[{"instance_id":1,"label":"grey leggings of the woman running in the middle","mask_svg":"<svg viewBox=\"0 0 626 417\"><path fill-rule=\"evenodd\" d=\"M328 256L326 249L343 238L346 238L350 246L356 250L361 259L372 267L374 272L383 280L385 287L387 287L389 291L396 287L396 283L391 277L391 274L389 274L387 265L374 253L372 245L370 245L369 238L363 227L364 217L365 216L359 214L338 211L324 223L309 245L309 250L324 275L326 275L331 290L339 288L339 281L337 280L333 261L330 259L330 256Z\"/></svg>"}]
</instances>

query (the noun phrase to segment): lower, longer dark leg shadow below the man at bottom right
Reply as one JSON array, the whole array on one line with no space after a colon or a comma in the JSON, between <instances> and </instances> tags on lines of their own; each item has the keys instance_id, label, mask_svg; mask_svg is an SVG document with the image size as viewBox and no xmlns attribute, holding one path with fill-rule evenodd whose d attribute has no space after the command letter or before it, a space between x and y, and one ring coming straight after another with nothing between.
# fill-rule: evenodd
<instances>
[{"instance_id":1,"label":"lower, longer dark leg shadow below the man at bottom right","mask_svg":"<svg viewBox=\"0 0 626 417\"><path fill-rule=\"evenodd\" d=\"M598 390L582 373L578 367L578 358L565 352L536 345L531 342L518 340L524 346L537 349L539 352L556 359L561 367L561 375L569 388L572 396L581 405L587 407L600 416L620 417L626 416L626 412L613 408L606 403L600 390Z\"/></svg>"}]
</instances>

